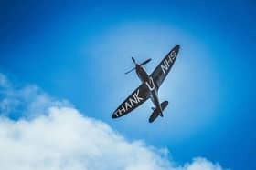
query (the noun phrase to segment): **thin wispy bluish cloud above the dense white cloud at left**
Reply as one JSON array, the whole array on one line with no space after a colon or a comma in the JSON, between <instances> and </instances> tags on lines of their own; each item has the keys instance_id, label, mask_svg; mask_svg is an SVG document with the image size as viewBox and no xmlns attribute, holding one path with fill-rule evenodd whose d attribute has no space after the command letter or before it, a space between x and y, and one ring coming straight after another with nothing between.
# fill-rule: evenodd
<instances>
[{"instance_id":1,"label":"thin wispy bluish cloud above the dense white cloud at left","mask_svg":"<svg viewBox=\"0 0 256 170\"><path fill-rule=\"evenodd\" d=\"M67 100L57 100L37 85L13 85L0 73L0 114L12 117L34 118L46 114L50 106L72 106Z\"/></svg>"}]
</instances>

